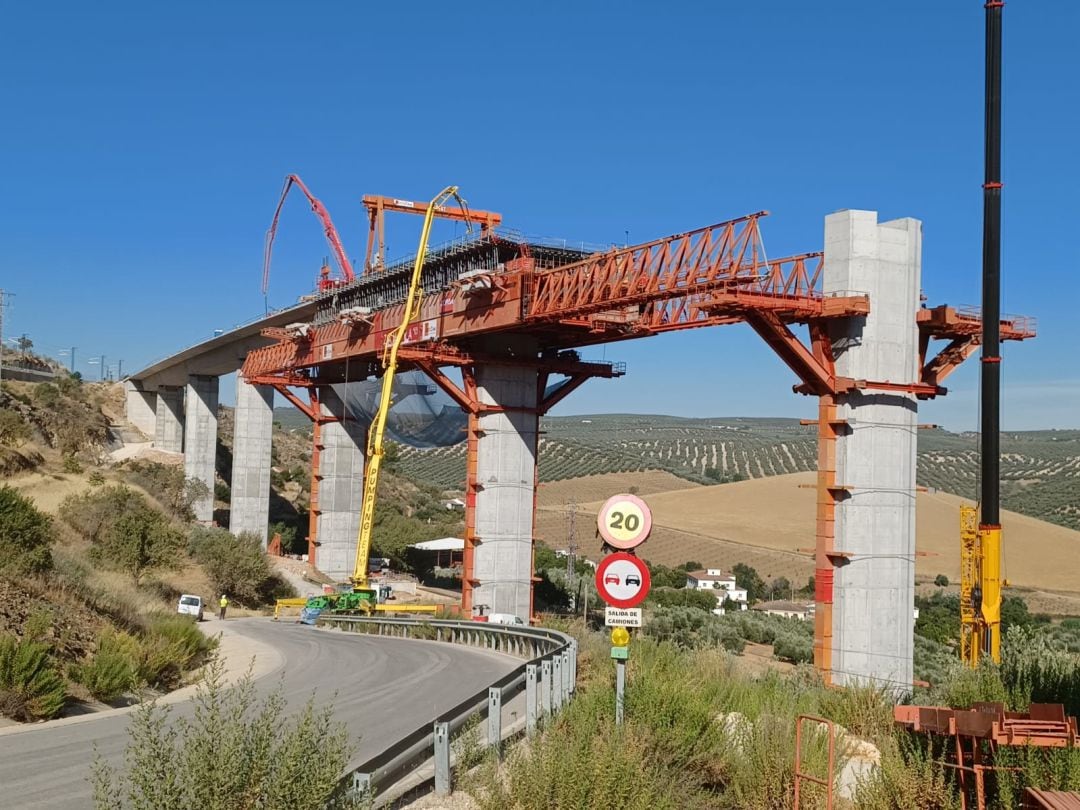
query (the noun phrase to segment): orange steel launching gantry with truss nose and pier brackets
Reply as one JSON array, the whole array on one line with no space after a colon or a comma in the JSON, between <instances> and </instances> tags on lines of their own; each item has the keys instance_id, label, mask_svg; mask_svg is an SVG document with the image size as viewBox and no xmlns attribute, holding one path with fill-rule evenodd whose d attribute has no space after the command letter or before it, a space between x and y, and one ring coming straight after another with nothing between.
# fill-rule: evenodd
<instances>
[{"instance_id":1,"label":"orange steel launching gantry with truss nose and pier brackets","mask_svg":"<svg viewBox=\"0 0 1080 810\"><path fill-rule=\"evenodd\" d=\"M841 486L835 476L835 440L842 430L837 397L859 389L920 399L945 393L942 382L978 346L981 319L977 312L951 307L920 310L921 372L914 382L839 376L829 325L866 315L869 297L825 295L821 253L767 258L760 234L765 216L767 212L758 212L599 252L526 240L489 219L477 237L429 253L424 299L400 359L406 367L424 370L470 415L464 610L472 607L472 559L480 540L474 512L475 491L482 486L476 481L477 418L498 409L477 395L477 368L498 363L535 369L539 392L535 413L542 415L588 379L623 373L617 365L581 362L570 351L575 348L746 323L799 378L795 390L815 395L820 402L815 663L827 675L833 568L838 564L834 510ZM247 355L242 369L245 380L284 391L291 386L314 389L376 374L387 336L403 316L401 280L406 269L406 262L382 268L321 294L310 328L265 330L276 342ZM808 327L809 342L793 330L797 325ZM1001 321L1004 340L1034 334L1034 325L1025 319ZM934 340L949 342L932 355ZM462 386L443 373L448 366L460 369ZM562 375L566 381L545 395L549 375Z\"/></svg>"}]
</instances>

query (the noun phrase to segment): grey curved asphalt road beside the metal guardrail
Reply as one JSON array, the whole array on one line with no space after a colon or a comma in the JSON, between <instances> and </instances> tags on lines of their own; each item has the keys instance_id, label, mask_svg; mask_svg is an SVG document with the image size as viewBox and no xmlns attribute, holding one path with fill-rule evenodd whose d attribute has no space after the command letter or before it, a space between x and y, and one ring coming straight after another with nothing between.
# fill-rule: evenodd
<instances>
[{"instance_id":1,"label":"grey curved asphalt road beside the metal guardrail","mask_svg":"<svg viewBox=\"0 0 1080 810\"><path fill-rule=\"evenodd\" d=\"M521 664L468 647L320 631L267 619L238 619L227 626L230 634L281 654L284 666L259 678L261 690L272 689L283 674L291 710L302 705L312 690L318 700L333 701L336 718L352 729L354 762L379 753ZM184 713L187 706L179 703L173 711ZM0 807L91 807L87 777L94 748L110 761L122 761L130 718L130 712L108 713L0 732Z\"/></svg>"}]
</instances>

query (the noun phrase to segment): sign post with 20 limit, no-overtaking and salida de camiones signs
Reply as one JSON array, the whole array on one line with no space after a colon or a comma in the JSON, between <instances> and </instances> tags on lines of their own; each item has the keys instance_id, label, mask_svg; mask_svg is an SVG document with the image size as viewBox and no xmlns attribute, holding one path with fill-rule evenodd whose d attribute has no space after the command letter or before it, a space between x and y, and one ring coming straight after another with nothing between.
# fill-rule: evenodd
<instances>
[{"instance_id":1,"label":"sign post with 20 limit, no-overtaking and salida de camiones signs","mask_svg":"<svg viewBox=\"0 0 1080 810\"><path fill-rule=\"evenodd\" d=\"M630 631L642 626L638 607L649 594L649 567L631 553L649 537L652 514L640 498L616 495L596 515L596 528L604 542L617 549L596 566L596 593L607 603L604 623L611 627L611 659L615 661L615 723L622 725L623 696L626 691L626 661L630 659Z\"/></svg>"}]
</instances>

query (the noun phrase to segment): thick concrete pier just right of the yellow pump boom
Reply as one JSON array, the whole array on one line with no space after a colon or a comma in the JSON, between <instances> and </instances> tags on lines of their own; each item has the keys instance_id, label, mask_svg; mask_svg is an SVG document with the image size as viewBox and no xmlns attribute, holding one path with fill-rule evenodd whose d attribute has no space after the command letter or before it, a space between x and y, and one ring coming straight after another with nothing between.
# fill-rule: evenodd
<instances>
[{"instance_id":1,"label":"thick concrete pier just right of the yellow pump boom","mask_svg":"<svg viewBox=\"0 0 1080 810\"><path fill-rule=\"evenodd\" d=\"M532 508L536 492L537 373L485 365L476 372L485 405L477 443L476 546L473 605L529 620L532 585Z\"/></svg>"}]
</instances>

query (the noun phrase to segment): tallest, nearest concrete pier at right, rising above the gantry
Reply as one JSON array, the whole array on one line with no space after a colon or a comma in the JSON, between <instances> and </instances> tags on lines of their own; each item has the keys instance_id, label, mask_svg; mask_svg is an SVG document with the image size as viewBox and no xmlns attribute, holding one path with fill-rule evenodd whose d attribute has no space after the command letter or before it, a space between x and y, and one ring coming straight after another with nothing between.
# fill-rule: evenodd
<instances>
[{"instance_id":1,"label":"tallest, nearest concrete pier at right, rising above the gantry","mask_svg":"<svg viewBox=\"0 0 1080 810\"><path fill-rule=\"evenodd\" d=\"M831 334L841 377L918 380L922 225L878 222L872 211L825 218L824 292L869 295L870 312ZM915 600L914 395L870 389L839 397L848 420L836 447L836 481L850 488L836 508L834 683L910 691Z\"/></svg>"}]
</instances>

